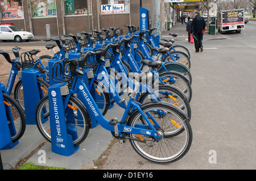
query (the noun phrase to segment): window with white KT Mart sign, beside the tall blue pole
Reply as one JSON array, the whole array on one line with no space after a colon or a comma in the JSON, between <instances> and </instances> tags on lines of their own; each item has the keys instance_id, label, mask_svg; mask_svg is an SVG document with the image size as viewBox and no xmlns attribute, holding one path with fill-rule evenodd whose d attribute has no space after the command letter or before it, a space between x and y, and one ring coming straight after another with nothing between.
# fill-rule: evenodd
<instances>
[{"instance_id":1,"label":"window with white KT Mart sign, beside the tall blue pole","mask_svg":"<svg viewBox=\"0 0 256 181\"><path fill-rule=\"evenodd\" d=\"M101 0L101 14L130 12L130 0Z\"/></svg>"}]
</instances>

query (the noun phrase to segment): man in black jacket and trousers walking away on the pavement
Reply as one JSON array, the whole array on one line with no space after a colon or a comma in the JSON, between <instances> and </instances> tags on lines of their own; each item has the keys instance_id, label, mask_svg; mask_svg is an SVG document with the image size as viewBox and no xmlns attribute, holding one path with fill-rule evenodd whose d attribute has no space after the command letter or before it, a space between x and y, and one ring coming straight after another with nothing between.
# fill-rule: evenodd
<instances>
[{"instance_id":1,"label":"man in black jacket and trousers walking away on the pavement","mask_svg":"<svg viewBox=\"0 0 256 181\"><path fill-rule=\"evenodd\" d=\"M195 49L196 52L203 52L203 44L202 44L202 37L203 37L203 30L205 30L205 21L204 18L200 16L200 12L195 12L195 18L193 18L191 24L191 33L194 35L194 42L195 42Z\"/></svg>"}]
</instances>

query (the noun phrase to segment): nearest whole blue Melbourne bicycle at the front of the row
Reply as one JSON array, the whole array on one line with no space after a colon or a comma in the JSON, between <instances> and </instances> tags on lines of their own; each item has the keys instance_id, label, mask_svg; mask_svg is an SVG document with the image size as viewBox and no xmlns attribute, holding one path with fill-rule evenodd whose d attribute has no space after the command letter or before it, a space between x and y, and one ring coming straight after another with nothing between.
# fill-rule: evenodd
<instances>
[{"instance_id":1,"label":"nearest whole blue Melbourne bicycle at the front of the row","mask_svg":"<svg viewBox=\"0 0 256 181\"><path fill-rule=\"evenodd\" d=\"M141 82L151 79L152 74L142 73L133 77L135 89L131 93L128 102L124 100L125 112L122 119L107 120L98 110L96 103L84 81L80 78L82 72L77 70L77 65L85 64L84 61L89 56L97 57L98 62L104 61L101 53L106 52L86 52L77 60L61 60L55 62L53 69L55 77L61 75L57 82L63 83L69 92L63 95L63 107L65 113L65 123L68 132L76 129L76 135L73 135L73 144L79 145L88 135L90 121L96 121L103 128L110 131L115 138L123 143L130 140L134 150L139 155L154 162L174 162L182 158L189 150L192 143L192 129L188 117L176 106L166 102L151 102L141 105L135 102L137 89ZM98 55L98 56L97 56ZM56 69L55 66L61 68ZM69 66L70 73L65 70ZM83 67L79 67L80 70ZM53 76L53 77L54 77ZM74 96L76 94L77 96ZM79 98L79 99L78 99ZM38 104L36 109L36 123L40 133L51 141L51 131L49 130L49 100L44 98ZM174 133L179 134L174 135Z\"/></svg>"}]
</instances>

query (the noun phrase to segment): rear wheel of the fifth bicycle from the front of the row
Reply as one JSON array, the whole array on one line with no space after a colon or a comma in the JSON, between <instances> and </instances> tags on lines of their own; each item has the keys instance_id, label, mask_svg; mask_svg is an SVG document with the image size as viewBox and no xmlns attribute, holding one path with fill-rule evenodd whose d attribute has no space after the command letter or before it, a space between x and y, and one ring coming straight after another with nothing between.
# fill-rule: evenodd
<instances>
[{"instance_id":1,"label":"rear wheel of the fifth bicycle from the front of the row","mask_svg":"<svg viewBox=\"0 0 256 181\"><path fill-rule=\"evenodd\" d=\"M171 51L169 53L175 59L175 61L180 62L181 64L184 64L189 69L191 68L191 61L190 61L190 58L187 54L185 54L184 52L177 51L177 50L176 51ZM164 56L162 61L163 62L168 62L168 61L173 61L173 60L170 57L170 55L167 53L166 56Z\"/></svg>"}]
</instances>

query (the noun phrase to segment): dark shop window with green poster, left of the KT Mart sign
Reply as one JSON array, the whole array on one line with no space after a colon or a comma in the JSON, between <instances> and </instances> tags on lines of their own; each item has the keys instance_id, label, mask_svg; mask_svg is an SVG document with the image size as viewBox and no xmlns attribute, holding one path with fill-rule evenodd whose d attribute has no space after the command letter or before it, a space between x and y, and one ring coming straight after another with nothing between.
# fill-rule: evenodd
<instances>
[{"instance_id":1,"label":"dark shop window with green poster, left of the KT Mart sign","mask_svg":"<svg viewBox=\"0 0 256 181\"><path fill-rule=\"evenodd\" d=\"M65 0L65 14L66 15L87 15L92 14L92 1L88 0Z\"/></svg>"}]
</instances>

